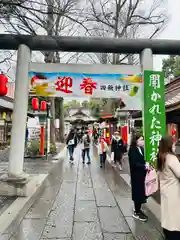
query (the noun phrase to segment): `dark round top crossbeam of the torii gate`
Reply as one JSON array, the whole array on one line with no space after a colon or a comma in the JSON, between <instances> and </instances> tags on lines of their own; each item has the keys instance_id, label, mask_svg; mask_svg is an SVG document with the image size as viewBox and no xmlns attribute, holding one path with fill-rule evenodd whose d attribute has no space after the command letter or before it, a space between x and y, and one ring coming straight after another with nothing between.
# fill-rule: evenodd
<instances>
[{"instance_id":1,"label":"dark round top crossbeam of the torii gate","mask_svg":"<svg viewBox=\"0 0 180 240\"><path fill-rule=\"evenodd\" d=\"M31 36L0 34L0 49L17 50L21 44L35 51L180 54L180 40L115 39L70 36Z\"/></svg>"}]
</instances>

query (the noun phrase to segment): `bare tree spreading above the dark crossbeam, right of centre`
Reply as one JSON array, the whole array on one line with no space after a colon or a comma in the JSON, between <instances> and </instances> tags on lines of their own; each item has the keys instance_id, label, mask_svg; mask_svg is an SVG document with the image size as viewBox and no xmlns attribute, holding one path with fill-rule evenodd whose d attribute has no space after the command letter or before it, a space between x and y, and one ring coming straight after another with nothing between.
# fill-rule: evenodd
<instances>
[{"instance_id":1,"label":"bare tree spreading above the dark crossbeam, right of centre","mask_svg":"<svg viewBox=\"0 0 180 240\"><path fill-rule=\"evenodd\" d=\"M93 36L115 38L152 38L167 23L165 0L87 0L86 20ZM132 55L98 54L101 63L134 62Z\"/></svg>"}]
</instances>

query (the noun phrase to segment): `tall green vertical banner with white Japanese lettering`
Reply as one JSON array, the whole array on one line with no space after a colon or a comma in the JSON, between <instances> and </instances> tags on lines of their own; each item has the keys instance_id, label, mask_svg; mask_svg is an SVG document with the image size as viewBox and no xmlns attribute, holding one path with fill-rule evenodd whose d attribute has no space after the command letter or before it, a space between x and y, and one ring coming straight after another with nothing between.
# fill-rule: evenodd
<instances>
[{"instance_id":1,"label":"tall green vertical banner with white Japanese lettering","mask_svg":"<svg viewBox=\"0 0 180 240\"><path fill-rule=\"evenodd\" d=\"M155 162L159 141L166 134L164 75L144 71L144 137L145 159Z\"/></svg>"}]
</instances>

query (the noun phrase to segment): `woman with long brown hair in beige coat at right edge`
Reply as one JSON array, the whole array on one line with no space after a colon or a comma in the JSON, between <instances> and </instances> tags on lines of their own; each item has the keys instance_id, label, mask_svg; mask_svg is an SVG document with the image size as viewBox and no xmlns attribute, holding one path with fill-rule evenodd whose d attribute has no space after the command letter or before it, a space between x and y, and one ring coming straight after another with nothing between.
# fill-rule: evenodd
<instances>
[{"instance_id":1,"label":"woman with long brown hair in beige coat at right edge","mask_svg":"<svg viewBox=\"0 0 180 240\"><path fill-rule=\"evenodd\" d=\"M171 136L162 137L157 155L160 180L161 225L166 240L180 239L180 162Z\"/></svg>"}]
</instances>

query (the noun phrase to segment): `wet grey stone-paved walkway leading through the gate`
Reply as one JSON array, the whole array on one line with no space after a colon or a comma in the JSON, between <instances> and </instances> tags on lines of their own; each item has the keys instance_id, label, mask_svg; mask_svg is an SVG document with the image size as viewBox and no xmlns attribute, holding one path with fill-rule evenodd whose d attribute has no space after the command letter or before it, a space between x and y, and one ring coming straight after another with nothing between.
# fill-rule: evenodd
<instances>
[{"instance_id":1,"label":"wet grey stone-paved walkway leading through the gate","mask_svg":"<svg viewBox=\"0 0 180 240\"><path fill-rule=\"evenodd\" d=\"M0 240L161 240L150 218L132 218L130 188L114 170L82 165L80 149L75 164L65 159L20 226L11 226ZM16 233L15 233L16 232Z\"/></svg>"}]
</instances>

